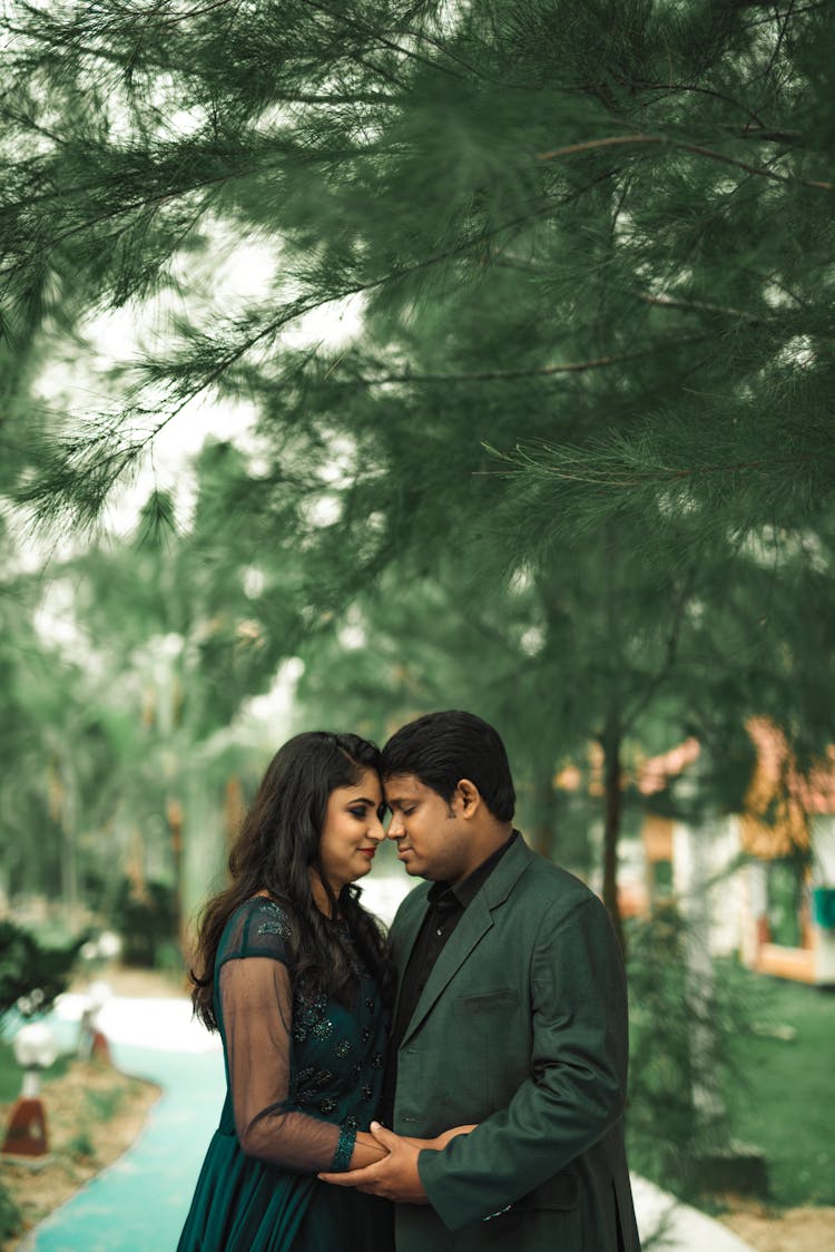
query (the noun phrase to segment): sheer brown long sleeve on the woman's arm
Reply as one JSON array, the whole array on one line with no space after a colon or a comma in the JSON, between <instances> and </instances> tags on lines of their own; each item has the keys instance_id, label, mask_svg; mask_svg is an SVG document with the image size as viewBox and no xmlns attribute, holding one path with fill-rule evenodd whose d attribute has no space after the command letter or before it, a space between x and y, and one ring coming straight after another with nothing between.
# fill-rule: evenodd
<instances>
[{"instance_id":1,"label":"sheer brown long sleeve on the woman's arm","mask_svg":"<svg viewBox=\"0 0 835 1252\"><path fill-rule=\"evenodd\" d=\"M227 959L219 990L243 1152L297 1173L347 1169L357 1132L293 1104L293 989L287 965L275 955Z\"/></svg>"}]
</instances>

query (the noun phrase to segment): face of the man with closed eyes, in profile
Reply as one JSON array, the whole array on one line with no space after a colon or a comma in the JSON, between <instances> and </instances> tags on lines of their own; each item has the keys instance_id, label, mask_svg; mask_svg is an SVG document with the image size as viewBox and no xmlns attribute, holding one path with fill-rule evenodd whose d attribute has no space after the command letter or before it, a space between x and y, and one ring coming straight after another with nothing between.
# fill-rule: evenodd
<instances>
[{"instance_id":1,"label":"face of the man with closed eyes, in profile","mask_svg":"<svg viewBox=\"0 0 835 1252\"><path fill-rule=\"evenodd\" d=\"M459 816L458 793L447 804L413 774L384 779L384 791L392 810L387 834L397 843L406 873L453 885L466 878L471 871L473 840Z\"/></svg>"}]
</instances>

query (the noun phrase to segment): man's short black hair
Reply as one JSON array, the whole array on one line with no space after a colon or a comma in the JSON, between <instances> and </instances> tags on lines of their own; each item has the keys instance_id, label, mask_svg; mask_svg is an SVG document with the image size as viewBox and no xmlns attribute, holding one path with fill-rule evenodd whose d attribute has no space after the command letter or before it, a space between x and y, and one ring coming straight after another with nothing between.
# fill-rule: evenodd
<instances>
[{"instance_id":1,"label":"man's short black hair","mask_svg":"<svg viewBox=\"0 0 835 1252\"><path fill-rule=\"evenodd\" d=\"M513 818L516 791L505 745L491 725L471 712L428 712L401 726L383 749L382 774L414 774L447 804L461 779L469 779L494 818Z\"/></svg>"}]
</instances>

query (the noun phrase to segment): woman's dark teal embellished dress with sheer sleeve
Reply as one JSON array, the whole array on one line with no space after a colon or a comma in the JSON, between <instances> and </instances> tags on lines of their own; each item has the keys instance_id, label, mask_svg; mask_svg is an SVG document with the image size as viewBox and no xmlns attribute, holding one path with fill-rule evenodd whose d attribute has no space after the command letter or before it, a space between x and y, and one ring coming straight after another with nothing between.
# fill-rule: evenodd
<instances>
[{"instance_id":1,"label":"woman's dark teal embellished dress with sheer sleeve","mask_svg":"<svg viewBox=\"0 0 835 1252\"><path fill-rule=\"evenodd\" d=\"M357 1131L377 1113L379 988L357 962L352 1009L305 994L288 939L285 914L265 898L242 904L220 939L214 1003L227 1098L178 1252L393 1248L387 1201L315 1177L348 1168Z\"/></svg>"}]
</instances>

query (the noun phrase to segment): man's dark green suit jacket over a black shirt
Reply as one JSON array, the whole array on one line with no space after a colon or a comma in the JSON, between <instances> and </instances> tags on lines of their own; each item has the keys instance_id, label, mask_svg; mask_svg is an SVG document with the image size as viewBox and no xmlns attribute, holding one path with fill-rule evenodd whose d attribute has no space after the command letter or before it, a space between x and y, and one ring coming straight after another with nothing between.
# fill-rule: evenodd
<instances>
[{"instance_id":1,"label":"man's dark green suit jacket over a black shirt","mask_svg":"<svg viewBox=\"0 0 835 1252\"><path fill-rule=\"evenodd\" d=\"M401 978L428 890L392 925ZM608 914L517 838L449 936L399 1048L398 1133L479 1124L418 1157L431 1207L397 1206L398 1252L638 1252L626 1059Z\"/></svg>"}]
</instances>

